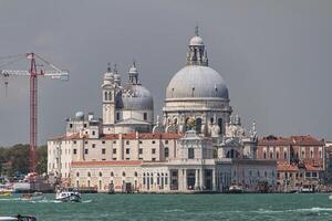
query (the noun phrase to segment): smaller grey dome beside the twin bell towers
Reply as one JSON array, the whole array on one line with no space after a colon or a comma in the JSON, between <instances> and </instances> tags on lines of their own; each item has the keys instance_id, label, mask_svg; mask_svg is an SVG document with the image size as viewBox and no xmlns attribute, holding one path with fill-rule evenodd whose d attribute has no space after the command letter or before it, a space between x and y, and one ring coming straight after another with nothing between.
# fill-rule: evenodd
<instances>
[{"instance_id":1,"label":"smaller grey dome beside the twin bell towers","mask_svg":"<svg viewBox=\"0 0 332 221\"><path fill-rule=\"evenodd\" d=\"M122 92L123 109L145 110L154 108L151 92L141 84L127 84Z\"/></svg>"}]
</instances>

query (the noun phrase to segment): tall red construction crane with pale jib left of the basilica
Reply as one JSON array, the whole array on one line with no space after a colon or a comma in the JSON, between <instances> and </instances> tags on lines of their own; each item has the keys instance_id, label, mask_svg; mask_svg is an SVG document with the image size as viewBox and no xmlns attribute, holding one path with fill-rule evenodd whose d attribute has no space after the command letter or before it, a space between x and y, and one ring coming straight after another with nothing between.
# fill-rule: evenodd
<instances>
[{"instance_id":1,"label":"tall red construction crane with pale jib left of the basilica","mask_svg":"<svg viewBox=\"0 0 332 221\"><path fill-rule=\"evenodd\" d=\"M18 54L0 57L0 61L7 61L0 65L0 76L4 78L6 96L8 87L8 77L28 76L30 78L30 171L35 172L35 148L37 148L37 124L38 124L38 77L49 76L53 80L69 80L69 72L62 71L35 53ZM21 60L28 60L29 70L2 70L4 66L15 64Z\"/></svg>"}]
</instances>

